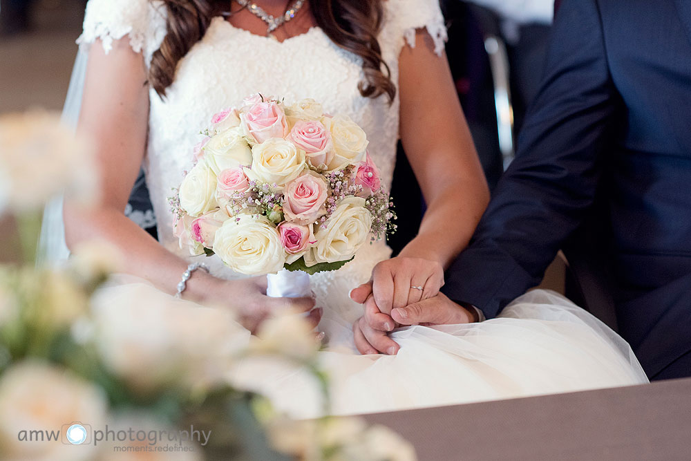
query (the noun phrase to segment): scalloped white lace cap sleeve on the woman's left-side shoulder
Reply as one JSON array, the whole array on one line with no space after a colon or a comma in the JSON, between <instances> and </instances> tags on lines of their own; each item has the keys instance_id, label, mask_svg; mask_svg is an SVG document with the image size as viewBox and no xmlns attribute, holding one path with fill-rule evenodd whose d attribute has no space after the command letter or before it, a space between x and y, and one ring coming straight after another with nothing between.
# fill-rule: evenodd
<instances>
[{"instance_id":1,"label":"scalloped white lace cap sleeve on the woman's left-side shoulder","mask_svg":"<svg viewBox=\"0 0 691 461\"><path fill-rule=\"evenodd\" d=\"M148 65L166 35L163 3L158 0L89 0L84 32L77 39L80 47L88 47L100 39L107 54L113 49L113 41L126 35L132 49L143 53Z\"/></svg>"}]
</instances>

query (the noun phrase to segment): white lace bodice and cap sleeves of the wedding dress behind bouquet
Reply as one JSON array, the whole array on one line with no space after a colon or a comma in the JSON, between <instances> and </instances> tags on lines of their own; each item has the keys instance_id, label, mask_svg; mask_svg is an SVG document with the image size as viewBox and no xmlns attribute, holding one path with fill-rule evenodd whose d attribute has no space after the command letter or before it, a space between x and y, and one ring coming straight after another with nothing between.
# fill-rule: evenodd
<instances>
[{"instance_id":1,"label":"white lace bodice and cap sleeves of the wedding dress behind bouquet","mask_svg":"<svg viewBox=\"0 0 691 461\"><path fill-rule=\"evenodd\" d=\"M406 41L415 46L415 29L426 27L440 54L446 28L437 0L387 0L384 5L379 44L397 84L398 57ZM113 40L129 36L133 50L142 53L148 65L165 35L165 8L158 0L91 0L78 43L88 46L100 39L107 53ZM336 46L318 27L278 42L236 28L223 17L214 18L206 35L178 64L166 99L153 89L150 93L144 167L162 245L189 256L173 236L167 197L180 185L182 171L191 167L193 147L211 116L239 105L252 93L285 97L288 102L311 97L328 113L350 115L368 134L370 155L382 182L390 187L399 139L399 99L389 104L386 97L362 97L357 89L362 78L361 58ZM386 257L382 254L377 257ZM212 266L218 274L220 263ZM223 276L233 274L225 270Z\"/></svg>"}]
</instances>

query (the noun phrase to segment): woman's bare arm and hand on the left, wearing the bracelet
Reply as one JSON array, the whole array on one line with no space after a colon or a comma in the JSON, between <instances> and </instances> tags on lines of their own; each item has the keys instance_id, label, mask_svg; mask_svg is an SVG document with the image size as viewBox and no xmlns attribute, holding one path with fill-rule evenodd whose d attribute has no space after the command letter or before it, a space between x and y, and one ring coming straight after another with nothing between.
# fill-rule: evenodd
<instances>
[{"instance_id":1,"label":"woman's bare arm and hand on the left, wearing the bracelet","mask_svg":"<svg viewBox=\"0 0 691 461\"><path fill-rule=\"evenodd\" d=\"M100 42L91 46L77 131L94 143L101 194L95 207L81 207L66 199L66 241L69 247L74 247L81 241L105 239L126 255L124 272L173 293L187 262L165 250L124 216L146 150L149 119L146 80L144 58L132 50L127 37L113 42L113 50L108 55ZM292 302L265 297L261 285L258 279L229 282L196 271L187 283L185 294L198 300L225 303L229 299L238 300L240 305L236 307L248 317L275 308L275 304L285 307ZM312 301L298 300L294 304L293 307L303 310L312 307Z\"/></svg>"}]
</instances>

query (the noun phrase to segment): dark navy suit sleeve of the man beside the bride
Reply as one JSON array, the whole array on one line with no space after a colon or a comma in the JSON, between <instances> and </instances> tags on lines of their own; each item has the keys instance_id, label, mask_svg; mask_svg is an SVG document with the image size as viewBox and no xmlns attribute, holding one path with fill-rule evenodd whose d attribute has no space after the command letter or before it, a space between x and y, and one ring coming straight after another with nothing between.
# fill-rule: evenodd
<instances>
[{"instance_id":1,"label":"dark navy suit sleeve of the man beside the bride","mask_svg":"<svg viewBox=\"0 0 691 461\"><path fill-rule=\"evenodd\" d=\"M593 203L620 98L596 0L565 0L516 158L442 292L495 317L538 285Z\"/></svg>"}]
</instances>

